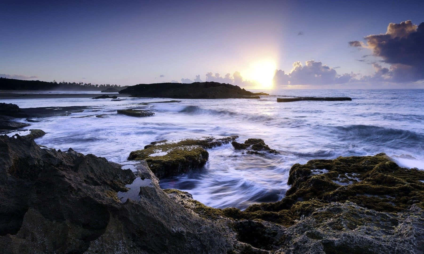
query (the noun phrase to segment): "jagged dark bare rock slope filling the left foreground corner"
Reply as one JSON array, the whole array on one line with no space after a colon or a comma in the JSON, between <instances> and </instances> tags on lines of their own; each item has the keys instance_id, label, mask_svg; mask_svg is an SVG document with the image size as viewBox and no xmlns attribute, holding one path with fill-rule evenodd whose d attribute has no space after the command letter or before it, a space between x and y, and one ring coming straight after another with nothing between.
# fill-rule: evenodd
<instances>
[{"instance_id":1,"label":"jagged dark bare rock slope filling the left foreground corner","mask_svg":"<svg viewBox=\"0 0 424 254\"><path fill-rule=\"evenodd\" d=\"M0 247L8 253L226 253L229 234L159 188L151 178L139 200L117 191L131 170L71 148L42 149L23 137L0 136Z\"/></svg>"}]
</instances>

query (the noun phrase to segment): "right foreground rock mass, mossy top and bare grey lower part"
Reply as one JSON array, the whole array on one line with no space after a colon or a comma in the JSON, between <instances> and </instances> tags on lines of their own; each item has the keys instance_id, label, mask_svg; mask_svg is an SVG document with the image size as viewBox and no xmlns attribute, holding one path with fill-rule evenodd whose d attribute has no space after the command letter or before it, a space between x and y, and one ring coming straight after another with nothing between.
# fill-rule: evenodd
<instances>
[{"instance_id":1,"label":"right foreground rock mass, mossy top and bare grey lower part","mask_svg":"<svg viewBox=\"0 0 424 254\"><path fill-rule=\"evenodd\" d=\"M227 218L253 248L248 253L423 253L424 171L399 167L385 154L339 157L293 165L288 184L281 201L245 211L173 195L204 218Z\"/></svg>"}]
</instances>

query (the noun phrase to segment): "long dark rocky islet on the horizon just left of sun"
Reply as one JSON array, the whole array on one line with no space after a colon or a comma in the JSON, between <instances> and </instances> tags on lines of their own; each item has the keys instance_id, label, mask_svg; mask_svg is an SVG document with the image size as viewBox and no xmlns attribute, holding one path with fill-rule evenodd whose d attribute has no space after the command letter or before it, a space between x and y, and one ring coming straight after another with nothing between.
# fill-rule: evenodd
<instances>
[{"instance_id":1,"label":"long dark rocky islet on the horizon just left of sun","mask_svg":"<svg viewBox=\"0 0 424 254\"><path fill-rule=\"evenodd\" d=\"M119 93L134 97L182 99L249 98L249 96L268 95L217 82L138 84L120 90Z\"/></svg>"}]
</instances>

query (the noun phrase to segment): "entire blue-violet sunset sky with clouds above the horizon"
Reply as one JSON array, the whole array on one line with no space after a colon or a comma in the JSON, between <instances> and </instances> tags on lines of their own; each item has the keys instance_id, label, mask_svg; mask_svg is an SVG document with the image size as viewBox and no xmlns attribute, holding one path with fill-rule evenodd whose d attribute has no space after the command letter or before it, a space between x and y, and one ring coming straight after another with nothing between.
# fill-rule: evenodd
<instances>
[{"instance_id":1,"label":"entire blue-violet sunset sky with clouds above the horizon","mask_svg":"<svg viewBox=\"0 0 424 254\"><path fill-rule=\"evenodd\" d=\"M423 1L4 1L0 76L424 88L423 10ZM388 33L390 23L399 25Z\"/></svg>"}]
</instances>

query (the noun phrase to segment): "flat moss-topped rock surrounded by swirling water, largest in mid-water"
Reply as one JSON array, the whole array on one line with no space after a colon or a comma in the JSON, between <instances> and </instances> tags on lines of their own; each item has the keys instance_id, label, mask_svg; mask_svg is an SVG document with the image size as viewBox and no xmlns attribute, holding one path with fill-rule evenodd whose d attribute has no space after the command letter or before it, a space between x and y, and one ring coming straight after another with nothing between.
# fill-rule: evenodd
<instances>
[{"instance_id":1,"label":"flat moss-topped rock surrounded by swirling water, largest in mid-water","mask_svg":"<svg viewBox=\"0 0 424 254\"><path fill-rule=\"evenodd\" d=\"M175 176L205 165L209 153L205 150L228 144L238 136L220 139L206 137L204 139L187 139L179 142L162 140L146 145L144 149L132 151L128 159L144 159L150 169L160 179Z\"/></svg>"}]
</instances>

